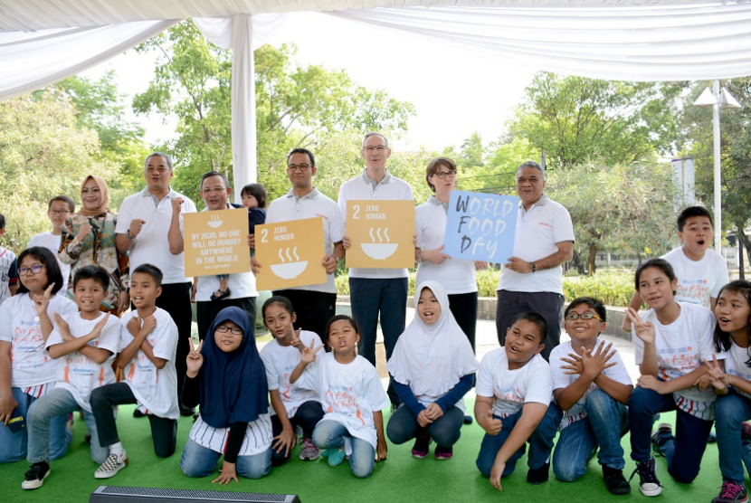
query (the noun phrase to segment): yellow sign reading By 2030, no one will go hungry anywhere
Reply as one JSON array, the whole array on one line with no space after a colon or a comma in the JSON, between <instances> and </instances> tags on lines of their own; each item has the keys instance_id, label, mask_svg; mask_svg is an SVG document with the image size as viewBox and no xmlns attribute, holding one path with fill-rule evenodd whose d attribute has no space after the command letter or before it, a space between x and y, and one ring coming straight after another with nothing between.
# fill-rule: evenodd
<instances>
[{"instance_id":1,"label":"yellow sign reading By 2030, no one will go hungry anywhere","mask_svg":"<svg viewBox=\"0 0 751 503\"><path fill-rule=\"evenodd\" d=\"M251 270L248 210L216 210L184 216L185 276Z\"/></svg>"}]
</instances>

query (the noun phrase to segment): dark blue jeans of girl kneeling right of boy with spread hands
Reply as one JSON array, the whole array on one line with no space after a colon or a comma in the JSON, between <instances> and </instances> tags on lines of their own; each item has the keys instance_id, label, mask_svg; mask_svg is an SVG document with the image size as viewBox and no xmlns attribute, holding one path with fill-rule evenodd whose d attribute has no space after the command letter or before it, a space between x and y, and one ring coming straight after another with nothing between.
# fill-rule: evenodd
<instances>
[{"instance_id":1,"label":"dark blue jeans of girl kneeling right of boy with spread hands","mask_svg":"<svg viewBox=\"0 0 751 503\"><path fill-rule=\"evenodd\" d=\"M712 421L684 413L675 404L672 394L636 387L629 397L631 427L631 459L637 462L651 458L651 429L658 413L675 411L675 436L660 439L660 451L668 460L668 473L673 479L688 484L699 475L701 458L707 449ZM673 463L672 460L677 460Z\"/></svg>"}]
</instances>

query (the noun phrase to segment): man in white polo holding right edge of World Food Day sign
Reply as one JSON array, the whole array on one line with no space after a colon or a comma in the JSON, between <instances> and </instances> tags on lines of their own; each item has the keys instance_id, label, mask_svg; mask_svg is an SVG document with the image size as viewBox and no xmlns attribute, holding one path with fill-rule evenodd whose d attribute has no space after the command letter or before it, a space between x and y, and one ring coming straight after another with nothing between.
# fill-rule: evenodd
<instances>
[{"instance_id":1,"label":"man in white polo holding right edge of World Food Day sign","mask_svg":"<svg viewBox=\"0 0 751 503\"><path fill-rule=\"evenodd\" d=\"M541 355L547 360L561 339L563 268L574 256L574 226L561 204L548 199L545 172L534 161L517 169L519 213L514 256L503 264L498 287L496 328L501 346L506 331L522 311L536 311L547 321Z\"/></svg>"}]
</instances>

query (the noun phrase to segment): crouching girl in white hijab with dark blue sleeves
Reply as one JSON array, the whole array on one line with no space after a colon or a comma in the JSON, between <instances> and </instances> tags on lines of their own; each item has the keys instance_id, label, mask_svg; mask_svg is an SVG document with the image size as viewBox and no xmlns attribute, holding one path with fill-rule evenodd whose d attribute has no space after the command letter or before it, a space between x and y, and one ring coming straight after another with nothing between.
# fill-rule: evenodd
<instances>
[{"instance_id":1,"label":"crouching girl in white hijab with dark blue sleeves","mask_svg":"<svg viewBox=\"0 0 751 503\"><path fill-rule=\"evenodd\" d=\"M415 458L425 458L435 441L435 458L448 460L461 436L462 397L470 391L480 364L440 283L425 281L417 287L414 305L417 316L386 364L403 403L392 414L386 436L395 444L415 439Z\"/></svg>"}]
</instances>

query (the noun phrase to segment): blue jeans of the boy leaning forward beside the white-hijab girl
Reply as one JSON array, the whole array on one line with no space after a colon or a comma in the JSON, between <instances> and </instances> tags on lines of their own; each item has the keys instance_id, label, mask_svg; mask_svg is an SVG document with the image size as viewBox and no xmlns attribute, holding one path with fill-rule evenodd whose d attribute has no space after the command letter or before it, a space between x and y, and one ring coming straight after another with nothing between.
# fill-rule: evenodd
<instances>
[{"instance_id":1,"label":"blue jeans of the boy leaning forward beside the white-hijab girl","mask_svg":"<svg viewBox=\"0 0 751 503\"><path fill-rule=\"evenodd\" d=\"M490 470L493 469L493 463L496 462L496 456L503 444L509 438L514 426L517 425L518 420L521 418L522 411L509 415L506 418L500 418L493 416L495 419L500 419L503 423L503 428L498 435L490 436L485 433L482 438L482 445L480 445L480 454L477 456L475 464L480 470L480 473L485 477L490 477ZM553 439L556 438L556 432L558 431L558 424L561 422L560 409L557 407L547 407L547 413L542 421L537 425L535 432L528 439L529 443L529 456L527 464L531 469L538 469L547 463L550 458L550 452L553 451ZM508 477L514 472L517 466L517 460L521 458L524 451L527 449L527 444L522 445L518 451L506 461L506 469L503 470L503 477Z\"/></svg>"}]
</instances>

